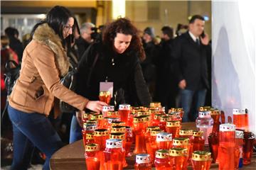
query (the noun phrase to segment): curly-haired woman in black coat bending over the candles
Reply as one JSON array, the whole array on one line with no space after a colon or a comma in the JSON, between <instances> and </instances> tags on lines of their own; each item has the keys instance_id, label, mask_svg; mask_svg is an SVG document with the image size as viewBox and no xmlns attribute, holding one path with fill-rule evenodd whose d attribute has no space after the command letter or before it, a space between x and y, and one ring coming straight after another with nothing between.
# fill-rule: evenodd
<instances>
[{"instance_id":1,"label":"curly-haired woman in black coat bending over the candles","mask_svg":"<svg viewBox=\"0 0 256 170\"><path fill-rule=\"evenodd\" d=\"M113 83L110 105L149 106L151 96L139 64L144 58L137 28L128 19L119 18L107 26L102 42L92 44L82 56L76 92L89 100L98 99L100 82L107 81ZM70 142L82 139L75 116L70 129Z\"/></svg>"}]
</instances>

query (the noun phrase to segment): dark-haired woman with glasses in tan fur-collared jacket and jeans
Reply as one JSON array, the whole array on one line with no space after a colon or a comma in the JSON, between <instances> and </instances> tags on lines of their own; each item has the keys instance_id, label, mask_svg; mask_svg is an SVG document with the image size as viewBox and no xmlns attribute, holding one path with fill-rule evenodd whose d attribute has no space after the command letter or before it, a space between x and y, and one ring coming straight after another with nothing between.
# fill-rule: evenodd
<instances>
[{"instance_id":1,"label":"dark-haired woman with glasses in tan fur-collared jacket and jeans","mask_svg":"<svg viewBox=\"0 0 256 170\"><path fill-rule=\"evenodd\" d=\"M88 101L60 84L68 72L65 38L72 34L74 18L67 8L53 7L46 20L33 29L33 40L23 52L20 77L9 96L9 117L14 129L14 159L11 169L27 169L33 147L46 154L43 169L49 169L52 154L63 146L47 116L54 98L83 111L101 111L107 105Z\"/></svg>"}]
</instances>

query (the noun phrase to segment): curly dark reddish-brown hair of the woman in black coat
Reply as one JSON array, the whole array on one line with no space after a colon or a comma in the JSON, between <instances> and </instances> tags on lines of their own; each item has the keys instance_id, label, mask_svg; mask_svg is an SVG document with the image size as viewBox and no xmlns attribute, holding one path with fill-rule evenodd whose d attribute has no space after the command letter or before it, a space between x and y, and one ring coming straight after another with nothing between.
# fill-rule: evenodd
<instances>
[{"instance_id":1,"label":"curly dark reddish-brown hair of the woman in black coat","mask_svg":"<svg viewBox=\"0 0 256 170\"><path fill-rule=\"evenodd\" d=\"M145 60L145 52L142 47L142 40L139 38L139 30L129 21L127 18L118 18L116 21L108 24L103 31L102 41L109 49L113 49L114 38L117 33L122 33L124 35L132 35L132 40L127 48L127 52L138 52L139 60Z\"/></svg>"}]
</instances>

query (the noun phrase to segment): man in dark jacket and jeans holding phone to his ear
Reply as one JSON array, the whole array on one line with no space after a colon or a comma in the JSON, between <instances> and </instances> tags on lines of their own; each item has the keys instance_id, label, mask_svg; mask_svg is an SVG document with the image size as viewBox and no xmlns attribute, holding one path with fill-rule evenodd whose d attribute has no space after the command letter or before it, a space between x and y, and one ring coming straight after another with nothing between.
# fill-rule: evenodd
<instances>
[{"instance_id":1,"label":"man in dark jacket and jeans holding phone to his ear","mask_svg":"<svg viewBox=\"0 0 256 170\"><path fill-rule=\"evenodd\" d=\"M174 42L172 57L176 60L175 72L181 90L183 122L194 121L198 108L204 106L209 87L207 72L208 35L202 36L205 25L202 16L193 16L188 31ZM190 115L189 115L190 113Z\"/></svg>"}]
</instances>

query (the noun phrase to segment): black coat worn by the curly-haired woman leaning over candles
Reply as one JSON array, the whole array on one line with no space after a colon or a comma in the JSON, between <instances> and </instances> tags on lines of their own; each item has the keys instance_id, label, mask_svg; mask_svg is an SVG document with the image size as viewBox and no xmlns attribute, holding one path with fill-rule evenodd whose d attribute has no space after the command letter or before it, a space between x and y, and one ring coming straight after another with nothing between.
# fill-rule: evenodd
<instances>
[{"instance_id":1,"label":"black coat worn by the curly-haired woman leaning over candles","mask_svg":"<svg viewBox=\"0 0 256 170\"><path fill-rule=\"evenodd\" d=\"M97 54L98 59L87 86L87 77ZM90 45L78 64L76 92L89 100L99 100L100 82L106 79L114 83L113 94L116 94L110 104L149 106L151 96L144 81L137 52L113 54L101 42Z\"/></svg>"}]
</instances>

